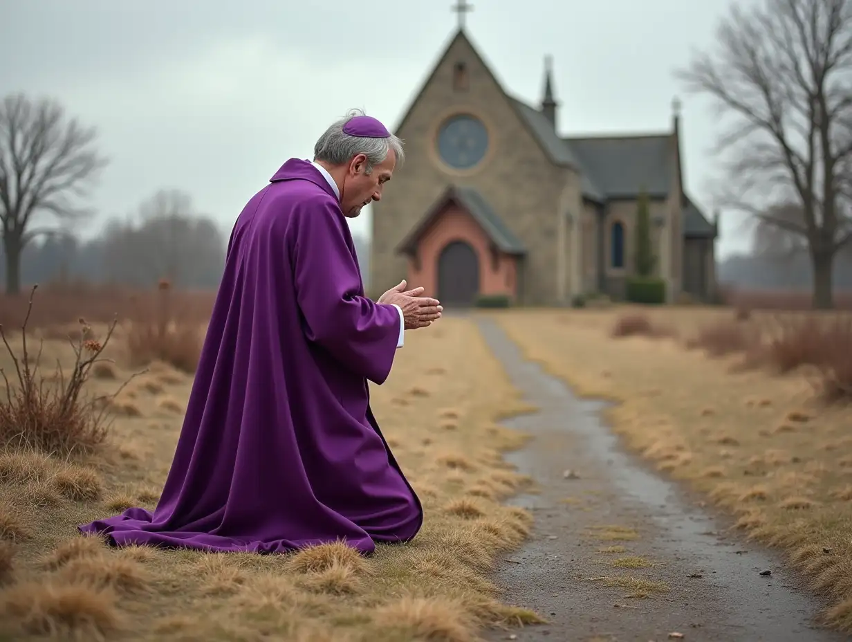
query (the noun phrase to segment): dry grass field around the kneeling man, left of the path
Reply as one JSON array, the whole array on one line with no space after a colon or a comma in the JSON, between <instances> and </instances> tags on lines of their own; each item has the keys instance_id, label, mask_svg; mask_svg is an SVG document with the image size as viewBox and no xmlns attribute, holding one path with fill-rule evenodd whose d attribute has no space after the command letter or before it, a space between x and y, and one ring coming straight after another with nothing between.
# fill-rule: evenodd
<instances>
[{"instance_id":1,"label":"dry grass field around the kneeling man, left of the path","mask_svg":"<svg viewBox=\"0 0 852 642\"><path fill-rule=\"evenodd\" d=\"M411 544L380 546L372 558L341 545L283 556L112 549L76 526L156 506L204 327L173 314L183 304L170 302L168 284L148 304L161 316L119 324L108 343L104 321L118 299L89 314L84 297L75 308L41 295L27 345L28 367L40 369L22 371L29 395L16 371L26 365L21 334L10 329L26 298L14 312L3 301L18 361L0 345L11 389L0 384L0 639L464 642L484 627L538 620L503 604L487 579L530 528L527 512L502 504L529 480L501 457L523 438L495 424L524 408L472 321L406 335L389 381L373 388L426 512ZM81 314L89 317L74 321ZM64 379L53 376L57 362Z\"/></svg>"}]
</instances>

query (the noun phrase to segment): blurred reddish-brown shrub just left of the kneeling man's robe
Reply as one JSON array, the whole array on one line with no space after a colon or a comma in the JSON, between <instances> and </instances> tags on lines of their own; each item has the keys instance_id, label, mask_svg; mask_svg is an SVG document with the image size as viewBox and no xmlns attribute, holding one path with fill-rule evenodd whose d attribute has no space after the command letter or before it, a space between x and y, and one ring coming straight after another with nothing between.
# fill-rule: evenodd
<instances>
[{"instance_id":1,"label":"blurred reddish-brown shrub just left of the kneeling man's robe","mask_svg":"<svg viewBox=\"0 0 852 642\"><path fill-rule=\"evenodd\" d=\"M127 328L126 344L131 366L164 361L189 374L193 374L199 366L202 340L198 323L175 315L172 296L169 281L160 281L154 318L137 315Z\"/></svg>"}]
</instances>

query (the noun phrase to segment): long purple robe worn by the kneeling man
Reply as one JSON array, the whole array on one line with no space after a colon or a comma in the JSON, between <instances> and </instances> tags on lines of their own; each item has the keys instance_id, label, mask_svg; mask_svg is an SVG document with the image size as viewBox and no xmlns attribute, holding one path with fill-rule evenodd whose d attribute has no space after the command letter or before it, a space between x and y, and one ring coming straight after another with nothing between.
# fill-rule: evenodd
<instances>
[{"instance_id":1,"label":"long purple robe worn by the kneeling man","mask_svg":"<svg viewBox=\"0 0 852 642\"><path fill-rule=\"evenodd\" d=\"M153 514L79 527L114 546L287 552L410 540L423 508L370 408L399 311L364 295L337 197L290 159L234 225L169 477Z\"/></svg>"}]
</instances>

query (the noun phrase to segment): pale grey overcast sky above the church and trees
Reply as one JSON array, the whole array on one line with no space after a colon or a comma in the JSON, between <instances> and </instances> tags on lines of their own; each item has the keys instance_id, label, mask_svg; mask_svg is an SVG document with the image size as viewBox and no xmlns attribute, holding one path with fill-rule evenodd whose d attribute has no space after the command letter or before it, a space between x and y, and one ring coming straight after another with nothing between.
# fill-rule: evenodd
<instances>
[{"instance_id":1,"label":"pale grey overcast sky above the church and trees","mask_svg":"<svg viewBox=\"0 0 852 642\"><path fill-rule=\"evenodd\" d=\"M668 130L681 95L687 186L710 212L713 113L672 72L711 46L729 0L473 3L469 36L510 93L538 101L554 56L563 134ZM269 176L310 158L349 107L399 122L456 30L450 5L0 0L0 94L55 97L98 128L111 160L91 198L98 221L181 188L227 234ZM746 248L740 225L722 223L720 253Z\"/></svg>"}]
</instances>

